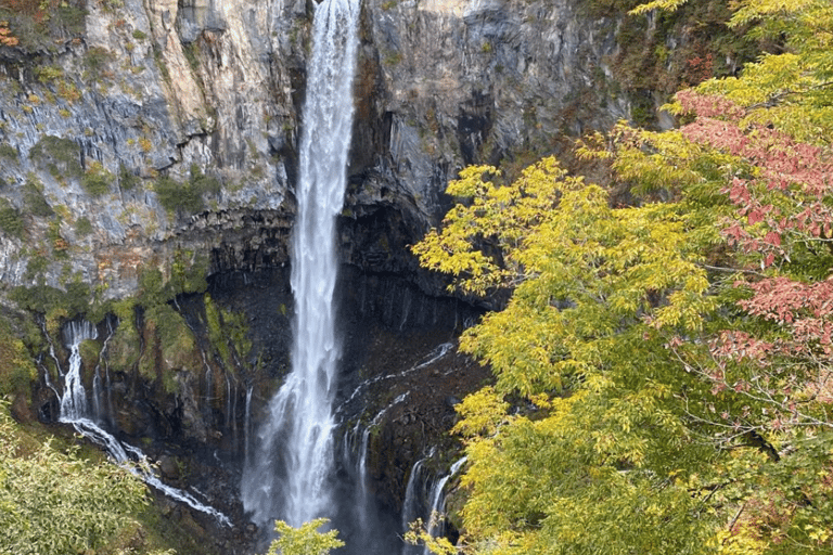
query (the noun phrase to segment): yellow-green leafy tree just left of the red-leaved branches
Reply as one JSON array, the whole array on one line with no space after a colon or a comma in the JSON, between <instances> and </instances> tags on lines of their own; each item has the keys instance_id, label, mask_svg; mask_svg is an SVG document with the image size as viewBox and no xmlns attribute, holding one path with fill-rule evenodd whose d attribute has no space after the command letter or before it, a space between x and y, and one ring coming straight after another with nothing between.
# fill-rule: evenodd
<instances>
[{"instance_id":1,"label":"yellow-green leafy tree just left of the red-leaved branches","mask_svg":"<svg viewBox=\"0 0 833 555\"><path fill-rule=\"evenodd\" d=\"M662 337L701 330L715 308L692 237L716 232L700 230L683 204L611 207L604 190L551 159L511 184L485 182L483 168L464 176L452 192L470 196L414 251L453 268L457 257L483 255L490 237L489 275L499 276L490 285L513 287L508 306L461 341L497 377L463 401L456 427L470 461L471 541L488 538L488 553L575 553L589 548L592 529L604 553L627 544L684 553L705 520L692 521L684 489L655 479L691 464L667 454L691 438L672 409L677 377ZM464 291L486 292L471 271L458 276ZM511 396L531 413L510 416ZM576 513L603 499L610 511ZM636 500L651 517L605 534ZM653 518L679 525L677 539L650 532Z\"/></svg>"}]
</instances>

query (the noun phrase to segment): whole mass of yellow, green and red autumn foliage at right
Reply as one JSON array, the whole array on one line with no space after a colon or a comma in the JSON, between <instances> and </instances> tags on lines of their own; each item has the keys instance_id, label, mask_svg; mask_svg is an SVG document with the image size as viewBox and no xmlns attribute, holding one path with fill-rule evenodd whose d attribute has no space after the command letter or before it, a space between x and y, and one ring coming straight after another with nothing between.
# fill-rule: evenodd
<instances>
[{"instance_id":1,"label":"whole mass of yellow, green and red autumn foliage at right","mask_svg":"<svg viewBox=\"0 0 833 555\"><path fill-rule=\"evenodd\" d=\"M414 248L511 292L462 340L496 376L456 428L465 552L833 550L833 7L734 8L777 49L678 93L679 129L579 146L632 202L469 168Z\"/></svg>"}]
</instances>

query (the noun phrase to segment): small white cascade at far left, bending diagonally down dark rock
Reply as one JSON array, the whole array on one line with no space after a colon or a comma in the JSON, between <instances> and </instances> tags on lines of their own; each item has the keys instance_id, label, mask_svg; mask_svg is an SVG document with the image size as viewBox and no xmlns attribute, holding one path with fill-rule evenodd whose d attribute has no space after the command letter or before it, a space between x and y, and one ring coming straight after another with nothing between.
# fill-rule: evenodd
<instances>
[{"instance_id":1,"label":"small white cascade at far left, bending diagonally down dark rock","mask_svg":"<svg viewBox=\"0 0 833 555\"><path fill-rule=\"evenodd\" d=\"M72 424L78 434L100 446L106 451L107 455L116 462L116 464L124 466L149 486L156 488L170 499L185 503L201 513L213 516L218 522L225 526L231 526L231 520L216 508L200 502L196 498L185 491L171 488L164 483L155 474L153 474L144 453L132 446L121 443L112 434L106 431L100 425L100 422L93 420L94 416L90 416L87 390L84 387L81 376L82 361L80 346L81 343L95 338L98 338L95 326L88 321L69 322L64 328L64 343L69 349L69 367L66 373L62 373L64 389L63 395L60 396L61 414L59 416L59 422ZM104 341L104 348L106 348L108 339L110 336L107 336ZM57 358L54 357L54 351L52 352L53 359L57 364ZM60 364L57 367L59 372L61 372ZM48 377L49 373L47 372L46 375Z\"/></svg>"}]
</instances>

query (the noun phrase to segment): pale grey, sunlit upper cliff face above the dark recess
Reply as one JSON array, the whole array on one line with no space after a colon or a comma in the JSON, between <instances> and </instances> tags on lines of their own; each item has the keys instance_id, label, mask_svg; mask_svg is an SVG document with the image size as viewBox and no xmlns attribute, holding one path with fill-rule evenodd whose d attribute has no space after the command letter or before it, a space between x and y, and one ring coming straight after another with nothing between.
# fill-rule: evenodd
<instances>
[{"instance_id":1,"label":"pale grey, sunlit upper cliff face above the dark recess","mask_svg":"<svg viewBox=\"0 0 833 555\"><path fill-rule=\"evenodd\" d=\"M117 298L143 266L169 275L178 250L212 253L214 271L285 259L271 238L293 212L312 3L86 10L82 30L49 49L0 49L2 283L63 287L77 274ZM407 266L396 247L437 222L463 165L552 150L626 115L589 94L614 43L577 10L364 2L347 261Z\"/></svg>"}]
</instances>

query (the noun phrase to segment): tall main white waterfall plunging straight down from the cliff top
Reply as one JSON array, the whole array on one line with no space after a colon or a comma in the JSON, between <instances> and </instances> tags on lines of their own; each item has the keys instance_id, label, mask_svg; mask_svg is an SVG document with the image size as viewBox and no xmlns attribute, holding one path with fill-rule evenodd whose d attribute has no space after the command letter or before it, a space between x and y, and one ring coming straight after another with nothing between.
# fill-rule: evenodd
<instances>
[{"instance_id":1,"label":"tall main white waterfall plunging straight down from the cliff top","mask_svg":"<svg viewBox=\"0 0 833 555\"><path fill-rule=\"evenodd\" d=\"M358 16L359 0L316 7L293 231L292 372L270 401L242 482L243 505L260 525L282 518L297 527L332 508L335 218L346 186Z\"/></svg>"}]
</instances>

